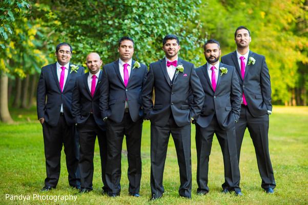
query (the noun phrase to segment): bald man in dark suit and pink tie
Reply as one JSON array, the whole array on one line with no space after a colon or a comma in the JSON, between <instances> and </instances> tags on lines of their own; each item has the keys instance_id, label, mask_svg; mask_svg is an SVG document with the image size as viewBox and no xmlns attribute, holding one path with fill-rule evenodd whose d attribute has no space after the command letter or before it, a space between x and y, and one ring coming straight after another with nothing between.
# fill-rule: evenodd
<instances>
[{"instance_id":1,"label":"bald man in dark suit and pink tie","mask_svg":"<svg viewBox=\"0 0 308 205\"><path fill-rule=\"evenodd\" d=\"M93 190L93 157L96 136L100 153L101 179L104 183L102 189L108 193L110 190L105 176L107 162L106 125L99 110L99 92L102 85L100 66L102 61L97 53L90 53L87 56L86 64L89 72L76 78L72 96L72 112L78 128L80 144L80 193Z\"/></svg>"}]
</instances>

